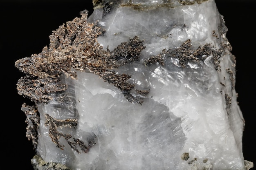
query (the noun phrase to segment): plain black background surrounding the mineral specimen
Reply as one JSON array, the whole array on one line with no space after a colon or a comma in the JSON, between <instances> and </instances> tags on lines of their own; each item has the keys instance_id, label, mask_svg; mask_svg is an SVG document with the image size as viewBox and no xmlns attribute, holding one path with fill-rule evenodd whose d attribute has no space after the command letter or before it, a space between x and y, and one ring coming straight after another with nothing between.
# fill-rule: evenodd
<instances>
[{"instance_id":1,"label":"plain black background surrounding the mineral specimen","mask_svg":"<svg viewBox=\"0 0 256 170\"><path fill-rule=\"evenodd\" d=\"M236 56L236 91L246 122L243 153L246 160L256 163L256 2L253 0L216 0L229 31L227 38ZM49 45L49 35L61 24L80 17L87 9L92 13L90 0L2 0L0 2L0 51L2 58L2 119L1 144L3 163L7 169L33 170L30 159L35 155L26 137L25 114L21 105L28 99L17 94L16 83L23 76L14 62L40 53ZM253 168L255 169L255 168Z\"/></svg>"}]
</instances>

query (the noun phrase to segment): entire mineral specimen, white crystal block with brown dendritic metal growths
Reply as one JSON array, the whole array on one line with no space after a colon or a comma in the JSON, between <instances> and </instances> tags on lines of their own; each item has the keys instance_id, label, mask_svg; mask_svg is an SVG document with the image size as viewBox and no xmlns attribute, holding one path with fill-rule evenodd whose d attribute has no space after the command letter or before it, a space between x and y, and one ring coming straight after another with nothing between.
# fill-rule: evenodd
<instances>
[{"instance_id":1,"label":"entire mineral specimen, white crystal block with brown dendritic metal growths","mask_svg":"<svg viewBox=\"0 0 256 170\"><path fill-rule=\"evenodd\" d=\"M35 170L248 170L214 0L93 0L16 61ZM51 170L52 170L51 169Z\"/></svg>"}]
</instances>

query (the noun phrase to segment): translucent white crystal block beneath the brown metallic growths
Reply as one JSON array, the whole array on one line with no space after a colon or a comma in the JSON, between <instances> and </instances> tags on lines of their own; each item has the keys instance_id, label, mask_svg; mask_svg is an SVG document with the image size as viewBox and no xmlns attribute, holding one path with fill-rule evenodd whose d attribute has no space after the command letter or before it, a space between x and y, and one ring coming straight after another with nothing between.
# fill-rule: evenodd
<instances>
[{"instance_id":1,"label":"translucent white crystal block beneath the brown metallic growths","mask_svg":"<svg viewBox=\"0 0 256 170\"><path fill-rule=\"evenodd\" d=\"M114 51L135 36L143 41L138 61L113 70L130 75L128 82L149 93L132 93L143 103L130 102L99 75L73 70L77 79L62 77L68 102L53 94L49 103L37 103L37 155L71 170L246 169L236 61L214 0L102 1L87 22L105 30L97 38L104 50ZM199 50L204 46L208 51ZM154 56L159 60L145 63ZM77 121L57 127L72 136L58 139L63 150L52 141L45 114ZM88 150L72 149L67 141L75 143L73 138Z\"/></svg>"}]
</instances>

